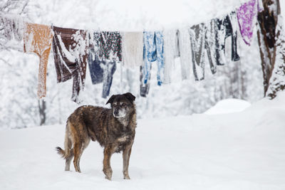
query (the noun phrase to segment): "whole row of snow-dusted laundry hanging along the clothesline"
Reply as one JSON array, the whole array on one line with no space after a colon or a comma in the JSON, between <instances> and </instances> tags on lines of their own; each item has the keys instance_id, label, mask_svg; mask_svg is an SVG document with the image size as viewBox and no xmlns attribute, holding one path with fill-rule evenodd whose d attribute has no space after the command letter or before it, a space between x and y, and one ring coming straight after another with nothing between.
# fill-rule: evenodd
<instances>
[{"instance_id":1,"label":"whole row of snow-dusted laundry hanging along the clothesline","mask_svg":"<svg viewBox=\"0 0 285 190\"><path fill-rule=\"evenodd\" d=\"M85 85L87 64L92 83L103 83L102 97L108 97L118 62L125 67L140 67L140 95L145 97L154 61L157 62L157 85L171 83L174 59L178 56L183 80L190 78L191 63L195 80L203 80L204 51L214 74L217 65L225 64L224 42L229 36L232 37L232 60L239 60L238 28L244 42L250 45L257 13L263 10L259 1L250 0L226 16L208 22L162 31L86 31L26 23L19 17L6 16L0 16L0 23L7 39L24 38L24 52L36 53L40 58L38 98L46 96L46 67L51 46L57 82L73 78L73 101L80 102L78 95Z\"/></svg>"}]
</instances>

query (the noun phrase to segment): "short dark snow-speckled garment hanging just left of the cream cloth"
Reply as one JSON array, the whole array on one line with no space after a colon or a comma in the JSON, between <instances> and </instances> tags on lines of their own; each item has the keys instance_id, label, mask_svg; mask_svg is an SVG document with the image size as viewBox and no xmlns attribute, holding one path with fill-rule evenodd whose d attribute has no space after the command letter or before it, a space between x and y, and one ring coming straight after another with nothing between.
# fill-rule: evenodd
<instances>
[{"instance_id":1,"label":"short dark snow-speckled garment hanging just left of the cream cloth","mask_svg":"<svg viewBox=\"0 0 285 190\"><path fill-rule=\"evenodd\" d=\"M115 58L122 61L122 36L120 32L101 31L98 45L100 59L112 60Z\"/></svg>"}]
</instances>

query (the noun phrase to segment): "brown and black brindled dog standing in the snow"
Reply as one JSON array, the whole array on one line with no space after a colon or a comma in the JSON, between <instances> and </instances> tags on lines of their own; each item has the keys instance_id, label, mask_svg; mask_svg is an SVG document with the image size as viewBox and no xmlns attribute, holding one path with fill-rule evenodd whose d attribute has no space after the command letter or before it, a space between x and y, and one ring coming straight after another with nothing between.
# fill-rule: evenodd
<instances>
[{"instance_id":1,"label":"brown and black brindled dog standing in the snow","mask_svg":"<svg viewBox=\"0 0 285 190\"><path fill-rule=\"evenodd\" d=\"M58 154L66 160L66 171L74 168L81 172L79 162L83 150L90 140L99 142L104 148L103 172L111 180L113 171L110 158L115 152L123 152L124 179L130 179L128 167L135 139L136 111L135 96L131 93L112 95L106 102L111 108L83 105L78 107L66 122L64 150L56 147Z\"/></svg>"}]
</instances>

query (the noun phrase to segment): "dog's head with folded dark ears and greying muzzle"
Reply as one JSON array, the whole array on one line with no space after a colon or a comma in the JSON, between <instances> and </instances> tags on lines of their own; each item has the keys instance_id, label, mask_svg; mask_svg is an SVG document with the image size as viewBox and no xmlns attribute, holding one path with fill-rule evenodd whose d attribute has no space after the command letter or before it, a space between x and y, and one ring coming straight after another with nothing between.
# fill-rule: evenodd
<instances>
[{"instance_id":1,"label":"dog's head with folded dark ears and greying muzzle","mask_svg":"<svg viewBox=\"0 0 285 190\"><path fill-rule=\"evenodd\" d=\"M112 95L106 104L110 103L114 117L128 117L135 110L135 96L131 93Z\"/></svg>"}]
</instances>

